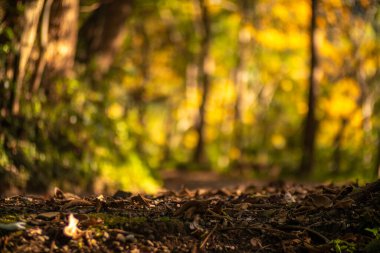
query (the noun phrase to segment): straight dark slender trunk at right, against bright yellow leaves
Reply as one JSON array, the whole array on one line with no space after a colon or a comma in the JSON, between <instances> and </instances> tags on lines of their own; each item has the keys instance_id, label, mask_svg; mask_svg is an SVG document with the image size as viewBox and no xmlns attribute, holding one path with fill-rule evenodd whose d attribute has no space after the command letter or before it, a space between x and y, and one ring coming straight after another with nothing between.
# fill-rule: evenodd
<instances>
[{"instance_id":1,"label":"straight dark slender trunk at right, against bright yellow leaves","mask_svg":"<svg viewBox=\"0 0 380 253\"><path fill-rule=\"evenodd\" d=\"M315 70L317 68L317 49L315 42L315 31L317 28L316 18L318 9L318 0L311 0L311 22L310 22L310 75L309 75L309 96L308 96L308 112L305 120L305 128L302 143L302 160L299 172L302 175L308 175L313 170L314 153L315 153L315 136L317 128L317 120L315 117L317 83L315 78Z\"/></svg>"}]
</instances>

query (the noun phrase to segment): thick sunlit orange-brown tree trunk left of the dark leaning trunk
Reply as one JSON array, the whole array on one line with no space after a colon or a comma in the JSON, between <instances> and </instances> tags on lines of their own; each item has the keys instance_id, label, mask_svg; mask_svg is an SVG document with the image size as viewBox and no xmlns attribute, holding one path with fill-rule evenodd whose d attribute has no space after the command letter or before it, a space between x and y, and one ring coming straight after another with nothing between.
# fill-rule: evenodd
<instances>
[{"instance_id":1,"label":"thick sunlit orange-brown tree trunk left of the dark leaning trunk","mask_svg":"<svg viewBox=\"0 0 380 253\"><path fill-rule=\"evenodd\" d=\"M32 91L40 84L50 102L61 98L56 91L58 79L73 74L75 49L78 36L79 0L46 0L41 16L39 58L31 83ZM31 169L27 190L46 191L49 176L38 169Z\"/></svg>"}]
</instances>

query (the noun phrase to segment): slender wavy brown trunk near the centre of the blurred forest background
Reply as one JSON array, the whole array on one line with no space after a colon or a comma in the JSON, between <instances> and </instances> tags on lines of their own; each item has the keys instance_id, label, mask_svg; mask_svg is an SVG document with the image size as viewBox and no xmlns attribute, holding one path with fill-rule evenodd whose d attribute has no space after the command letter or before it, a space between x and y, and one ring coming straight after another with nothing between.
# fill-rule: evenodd
<instances>
[{"instance_id":1,"label":"slender wavy brown trunk near the centre of the blurred forest background","mask_svg":"<svg viewBox=\"0 0 380 253\"><path fill-rule=\"evenodd\" d=\"M195 125L195 129L198 134L198 141L194 150L193 159L195 162L203 162L205 160L204 155L204 134L205 134L205 116L206 107L210 89L210 66L209 66L209 48L210 48L210 17L209 11L205 0L198 0L200 8L200 24L201 24L201 51L199 54L198 65L198 77L202 86L202 100L199 106L198 120Z\"/></svg>"}]
</instances>

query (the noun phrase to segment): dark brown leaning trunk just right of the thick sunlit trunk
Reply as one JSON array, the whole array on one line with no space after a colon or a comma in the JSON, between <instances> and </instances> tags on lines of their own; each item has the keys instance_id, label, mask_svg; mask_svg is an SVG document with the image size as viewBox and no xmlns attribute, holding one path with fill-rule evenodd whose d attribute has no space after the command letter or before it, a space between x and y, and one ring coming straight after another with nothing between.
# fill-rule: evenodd
<instances>
[{"instance_id":1,"label":"dark brown leaning trunk just right of the thick sunlit trunk","mask_svg":"<svg viewBox=\"0 0 380 253\"><path fill-rule=\"evenodd\" d=\"M124 28L133 0L103 1L82 25L78 58L94 63L99 79L105 74L121 47L127 31Z\"/></svg>"}]
</instances>

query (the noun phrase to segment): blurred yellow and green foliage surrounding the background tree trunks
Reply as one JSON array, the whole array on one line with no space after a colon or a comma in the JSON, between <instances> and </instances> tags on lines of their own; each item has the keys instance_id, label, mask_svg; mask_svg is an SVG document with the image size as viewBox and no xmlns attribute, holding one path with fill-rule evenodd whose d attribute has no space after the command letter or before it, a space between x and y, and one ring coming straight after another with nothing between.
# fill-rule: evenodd
<instances>
[{"instance_id":1,"label":"blurred yellow and green foliage surrounding the background tree trunks","mask_svg":"<svg viewBox=\"0 0 380 253\"><path fill-rule=\"evenodd\" d=\"M78 60L72 77L33 93L33 58L17 116L5 113L15 82L3 69L18 56L21 30L0 24L2 181L21 189L154 191L158 171L166 168L294 175L308 110L309 1L255 1L245 10L239 1L206 2L211 87L205 164L192 161L202 96L197 73L204 67L197 2L135 1L125 41L105 76L96 78L96 63ZM320 4L314 179L374 176L380 149L378 8L365 2ZM80 24L98 4L81 1ZM21 1L15 6L24 11ZM78 50L80 56L83 48Z\"/></svg>"}]
</instances>

